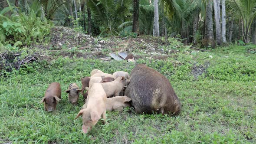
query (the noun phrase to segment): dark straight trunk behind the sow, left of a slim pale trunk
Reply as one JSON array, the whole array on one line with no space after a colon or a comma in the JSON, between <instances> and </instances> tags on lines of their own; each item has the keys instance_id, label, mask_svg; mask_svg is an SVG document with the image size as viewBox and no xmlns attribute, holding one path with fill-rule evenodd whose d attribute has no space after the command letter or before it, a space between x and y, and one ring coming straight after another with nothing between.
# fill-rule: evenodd
<instances>
[{"instance_id":1,"label":"dark straight trunk behind the sow, left of a slim pale trunk","mask_svg":"<svg viewBox=\"0 0 256 144\"><path fill-rule=\"evenodd\" d=\"M139 0L133 0L132 32L139 33Z\"/></svg>"}]
</instances>

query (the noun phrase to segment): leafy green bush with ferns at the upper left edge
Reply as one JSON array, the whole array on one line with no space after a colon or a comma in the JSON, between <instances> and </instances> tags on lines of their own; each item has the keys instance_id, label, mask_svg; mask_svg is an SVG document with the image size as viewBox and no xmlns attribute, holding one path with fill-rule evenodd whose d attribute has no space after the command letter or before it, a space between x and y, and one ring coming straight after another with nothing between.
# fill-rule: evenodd
<instances>
[{"instance_id":1,"label":"leafy green bush with ferns at the upper left edge","mask_svg":"<svg viewBox=\"0 0 256 144\"><path fill-rule=\"evenodd\" d=\"M33 10L28 14L13 10L9 17L2 14L0 17L0 45L3 46L29 46L40 42L53 26L45 17L36 16Z\"/></svg>"}]
</instances>

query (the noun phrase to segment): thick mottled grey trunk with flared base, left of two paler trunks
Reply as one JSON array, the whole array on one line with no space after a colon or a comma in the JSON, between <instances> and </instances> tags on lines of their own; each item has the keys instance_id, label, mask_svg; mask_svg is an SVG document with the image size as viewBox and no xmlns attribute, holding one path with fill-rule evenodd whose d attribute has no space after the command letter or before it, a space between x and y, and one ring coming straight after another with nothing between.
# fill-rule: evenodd
<instances>
[{"instance_id":1,"label":"thick mottled grey trunk with flared base, left of two paler trunks","mask_svg":"<svg viewBox=\"0 0 256 144\"><path fill-rule=\"evenodd\" d=\"M205 35L202 41L203 46L215 47L215 41L213 36L213 7L211 0L208 0L206 7L206 19L205 19Z\"/></svg>"}]
</instances>

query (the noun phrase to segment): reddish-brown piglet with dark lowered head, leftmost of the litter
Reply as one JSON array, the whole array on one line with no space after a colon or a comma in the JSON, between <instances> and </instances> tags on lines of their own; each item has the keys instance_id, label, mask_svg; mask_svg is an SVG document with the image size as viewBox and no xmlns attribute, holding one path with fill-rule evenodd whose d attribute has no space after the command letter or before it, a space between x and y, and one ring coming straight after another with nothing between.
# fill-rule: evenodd
<instances>
[{"instance_id":1,"label":"reddish-brown piglet with dark lowered head, leftmost of the litter","mask_svg":"<svg viewBox=\"0 0 256 144\"><path fill-rule=\"evenodd\" d=\"M47 88L44 97L39 103L44 102L46 111L56 111L58 101L61 99L61 89L58 82L53 82Z\"/></svg>"}]
</instances>

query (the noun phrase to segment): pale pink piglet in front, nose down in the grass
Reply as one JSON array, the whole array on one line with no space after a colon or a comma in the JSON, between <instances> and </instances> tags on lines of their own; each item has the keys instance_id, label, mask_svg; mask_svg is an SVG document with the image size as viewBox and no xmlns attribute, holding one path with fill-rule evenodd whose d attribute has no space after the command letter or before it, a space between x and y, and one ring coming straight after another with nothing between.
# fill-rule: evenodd
<instances>
[{"instance_id":1,"label":"pale pink piglet in front, nose down in the grass","mask_svg":"<svg viewBox=\"0 0 256 144\"><path fill-rule=\"evenodd\" d=\"M92 84L88 91L87 107L79 111L76 118L82 115L82 131L86 134L92 127L103 118L106 124L106 93L101 84ZM75 118L75 119L76 119Z\"/></svg>"}]
</instances>

